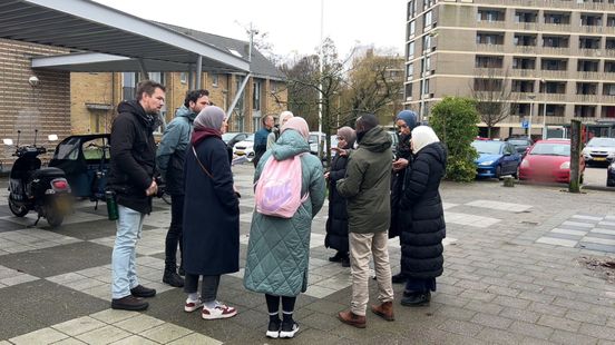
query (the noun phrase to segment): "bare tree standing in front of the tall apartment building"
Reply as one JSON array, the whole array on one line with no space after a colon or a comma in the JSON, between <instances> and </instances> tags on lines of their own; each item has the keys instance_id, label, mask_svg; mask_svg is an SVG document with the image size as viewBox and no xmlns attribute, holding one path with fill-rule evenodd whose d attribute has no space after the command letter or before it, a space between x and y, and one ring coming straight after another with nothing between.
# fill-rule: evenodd
<instances>
[{"instance_id":1,"label":"bare tree standing in front of the tall apartment building","mask_svg":"<svg viewBox=\"0 0 615 345\"><path fill-rule=\"evenodd\" d=\"M516 112L508 69L484 68L484 73L474 79L470 90L480 119L487 125L487 136L491 138L491 129Z\"/></svg>"}]
</instances>

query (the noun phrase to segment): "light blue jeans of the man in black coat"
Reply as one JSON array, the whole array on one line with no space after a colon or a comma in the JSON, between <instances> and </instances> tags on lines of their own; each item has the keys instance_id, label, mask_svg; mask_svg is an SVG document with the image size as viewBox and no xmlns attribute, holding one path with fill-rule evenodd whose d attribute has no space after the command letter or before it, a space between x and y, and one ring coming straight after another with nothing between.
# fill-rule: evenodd
<instances>
[{"instance_id":1,"label":"light blue jeans of the man in black coat","mask_svg":"<svg viewBox=\"0 0 615 345\"><path fill-rule=\"evenodd\" d=\"M117 206L119 218L116 220L117 234L111 257L114 282L111 298L130 295L130 289L139 285L135 260L137 239L140 238L145 215L128 207Z\"/></svg>"}]
</instances>

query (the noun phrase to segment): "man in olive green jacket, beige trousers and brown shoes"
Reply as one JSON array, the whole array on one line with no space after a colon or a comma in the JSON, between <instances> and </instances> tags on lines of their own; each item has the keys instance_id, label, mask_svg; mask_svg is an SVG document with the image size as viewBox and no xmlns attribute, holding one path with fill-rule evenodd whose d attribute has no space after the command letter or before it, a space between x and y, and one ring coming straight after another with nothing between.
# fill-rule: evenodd
<instances>
[{"instance_id":1,"label":"man in olive green jacket, beige trousers and brown shoes","mask_svg":"<svg viewBox=\"0 0 615 345\"><path fill-rule=\"evenodd\" d=\"M338 181L338 191L348 200L352 302L341 312L341 322L365 327L369 300L369 263L373 256L380 305L374 314L393 321L393 287L389 264L388 229L391 216L391 137L378 126L372 114L357 120L359 148L350 156L345 177Z\"/></svg>"}]
</instances>

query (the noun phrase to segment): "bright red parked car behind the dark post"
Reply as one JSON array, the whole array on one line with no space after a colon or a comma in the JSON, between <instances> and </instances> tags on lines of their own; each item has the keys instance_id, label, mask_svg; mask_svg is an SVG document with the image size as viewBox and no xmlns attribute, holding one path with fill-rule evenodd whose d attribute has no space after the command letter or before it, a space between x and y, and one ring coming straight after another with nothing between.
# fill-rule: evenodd
<instances>
[{"instance_id":1,"label":"bright red parked car behind the dark post","mask_svg":"<svg viewBox=\"0 0 615 345\"><path fill-rule=\"evenodd\" d=\"M585 172L585 159L580 156L580 183ZM539 181L570 181L570 141L538 140L519 166L519 179Z\"/></svg>"}]
</instances>

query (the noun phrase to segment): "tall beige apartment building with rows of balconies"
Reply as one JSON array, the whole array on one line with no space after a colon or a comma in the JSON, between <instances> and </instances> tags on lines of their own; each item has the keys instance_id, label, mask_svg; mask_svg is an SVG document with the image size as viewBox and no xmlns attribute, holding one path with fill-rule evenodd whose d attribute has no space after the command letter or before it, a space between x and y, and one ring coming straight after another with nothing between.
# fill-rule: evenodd
<instances>
[{"instance_id":1,"label":"tall beige apartment building with rows of balconies","mask_svg":"<svg viewBox=\"0 0 615 345\"><path fill-rule=\"evenodd\" d=\"M615 0L410 0L407 20L406 106L423 118L446 96L500 92L495 137L573 118L615 136Z\"/></svg>"}]
</instances>

